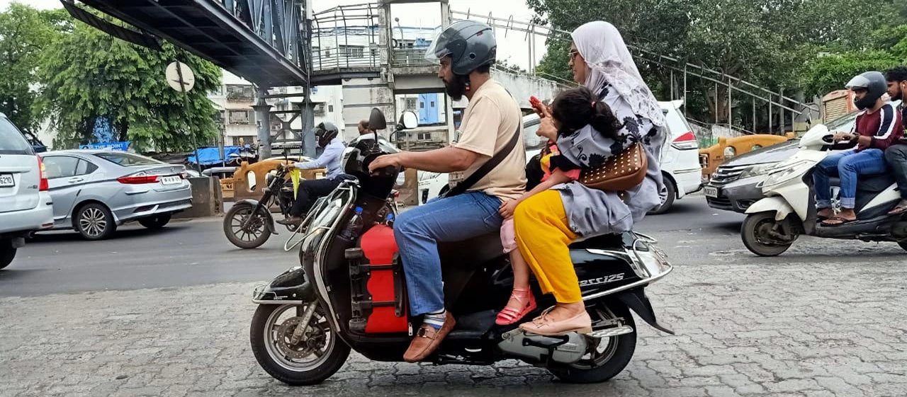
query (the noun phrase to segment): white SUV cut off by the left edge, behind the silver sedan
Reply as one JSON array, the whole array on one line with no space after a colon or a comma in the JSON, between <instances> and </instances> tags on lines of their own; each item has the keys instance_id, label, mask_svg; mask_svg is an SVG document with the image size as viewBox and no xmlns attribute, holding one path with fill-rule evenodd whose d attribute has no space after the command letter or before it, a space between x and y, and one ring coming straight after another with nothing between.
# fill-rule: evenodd
<instances>
[{"instance_id":1,"label":"white SUV cut off by the left edge, behind the silver sedan","mask_svg":"<svg viewBox=\"0 0 907 397\"><path fill-rule=\"evenodd\" d=\"M0 269L34 231L54 226L44 165L22 132L0 113Z\"/></svg>"}]
</instances>

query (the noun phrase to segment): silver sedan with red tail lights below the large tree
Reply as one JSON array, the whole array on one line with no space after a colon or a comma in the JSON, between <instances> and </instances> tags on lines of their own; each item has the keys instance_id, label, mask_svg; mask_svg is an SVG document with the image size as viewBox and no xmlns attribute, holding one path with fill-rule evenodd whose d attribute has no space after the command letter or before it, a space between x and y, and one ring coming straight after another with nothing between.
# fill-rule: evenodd
<instances>
[{"instance_id":1,"label":"silver sedan with red tail lights below the large tree","mask_svg":"<svg viewBox=\"0 0 907 397\"><path fill-rule=\"evenodd\" d=\"M181 165L112 150L48 151L41 158L54 199L54 229L100 240L131 221L163 228L172 214L192 207L189 174Z\"/></svg>"}]
</instances>

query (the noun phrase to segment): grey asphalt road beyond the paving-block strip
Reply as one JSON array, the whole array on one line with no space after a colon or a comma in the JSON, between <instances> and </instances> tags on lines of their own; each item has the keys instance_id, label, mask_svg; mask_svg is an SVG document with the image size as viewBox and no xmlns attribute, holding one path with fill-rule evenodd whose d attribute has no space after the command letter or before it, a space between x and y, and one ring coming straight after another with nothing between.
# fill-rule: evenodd
<instances>
[{"instance_id":1,"label":"grey asphalt road beyond the paving-block strip","mask_svg":"<svg viewBox=\"0 0 907 397\"><path fill-rule=\"evenodd\" d=\"M694 195L678 200L668 214L645 218L637 230L658 238L680 263L727 263L731 257L740 263L785 263L791 256L831 255L797 252L795 246L782 257L754 257L740 242L743 218L708 208L701 195ZM288 232L282 231L262 247L239 249L224 237L221 218L174 221L156 231L127 226L112 239L94 242L72 231L47 232L21 248L14 263L0 271L0 296L263 282L297 263L296 251L283 251L286 237Z\"/></svg>"}]
</instances>

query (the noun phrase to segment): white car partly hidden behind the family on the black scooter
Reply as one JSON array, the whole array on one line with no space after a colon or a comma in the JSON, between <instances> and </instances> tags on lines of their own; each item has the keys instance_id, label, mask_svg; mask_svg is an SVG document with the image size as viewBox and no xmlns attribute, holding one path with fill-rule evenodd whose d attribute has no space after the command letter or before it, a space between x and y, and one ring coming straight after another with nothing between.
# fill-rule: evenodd
<instances>
[{"instance_id":1,"label":"white car partly hidden behind the family on the black scooter","mask_svg":"<svg viewBox=\"0 0 907 397\"><path fill-rule=\"evenodd\" d=\"M699 151L696 135L689 128L687 118L679 111L683 101L658 102L665 113L670 133L668 142L662 152L661 171L664 173L665 185L668 188L668 201L652 211L661 214L668 211L675 199L682 199L689 193L702 189L702 170L699 168ZM539 131L539 116L529 114L522 118L522 137L526 150L526 160L538 154L546 140L535 135ZM437 197L449 189L447 174L436 172L419 172L419 203Z\"/></svg>"}]
</instances>

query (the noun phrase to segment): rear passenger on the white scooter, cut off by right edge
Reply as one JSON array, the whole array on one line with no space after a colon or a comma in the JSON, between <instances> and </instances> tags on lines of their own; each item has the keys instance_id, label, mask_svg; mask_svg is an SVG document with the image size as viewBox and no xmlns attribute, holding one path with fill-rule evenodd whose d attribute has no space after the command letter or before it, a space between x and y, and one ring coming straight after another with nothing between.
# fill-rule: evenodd
<instances>
[{"instance_id":1,"label":"rear passenger on the white scooter, cut off by right edge","mask_svg":"<svg viewBox=\"0 0 907 397\"><path fill-rule=\"evenodd\" d=\"M907 104L904 103L904 100L907 100L907 67L896 67L888 71L885 73L885 79L888 80L888 95L892 97L892 101L901 101L898 105L901 120L907 121ZM907 213L907 131L901 131L899 140L885 150L885 161L892 169L898 190L901 191L901 202L888 214Z\"/></svg>"}]
</instances>

